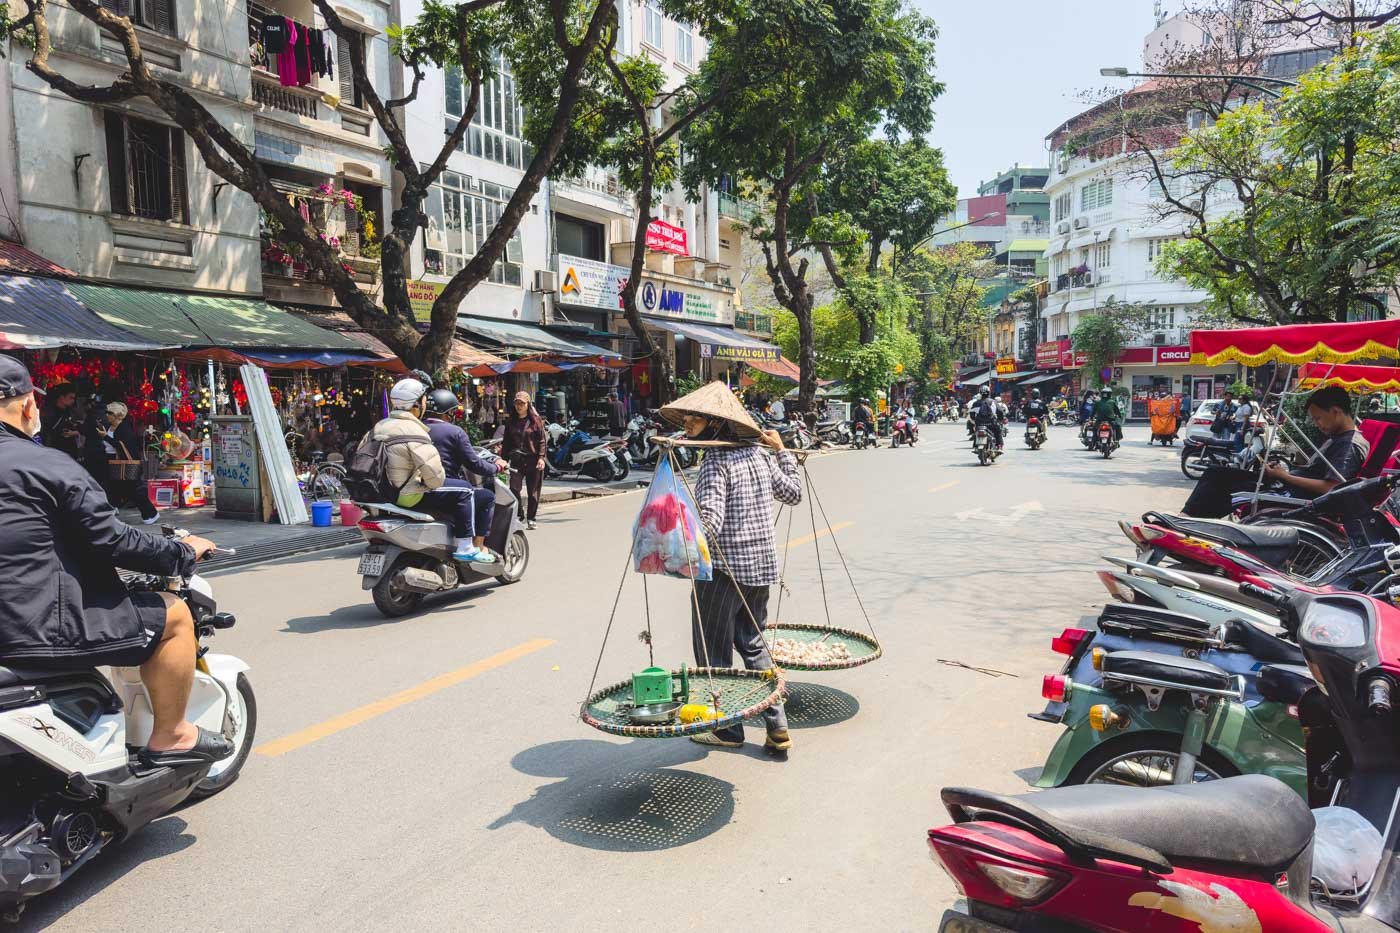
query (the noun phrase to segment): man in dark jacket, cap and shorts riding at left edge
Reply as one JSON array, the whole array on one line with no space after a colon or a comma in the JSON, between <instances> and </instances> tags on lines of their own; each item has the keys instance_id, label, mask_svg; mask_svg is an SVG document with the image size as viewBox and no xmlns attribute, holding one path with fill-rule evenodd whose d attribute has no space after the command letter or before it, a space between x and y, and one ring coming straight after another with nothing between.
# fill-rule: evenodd
<instances>
[{"instance_id":1,"label":"man in dark jacket, cap and shorts riding at left edge","mask_svg":"<svg viewBox=\"0 0 1400 933\"><path fill-rule=\"evenodd\" d=\"M118 567L188 576L214 549L125 524L67 454L39 447L28 370L0 356L0 664L38 670L139 667L154 724L150 768L213 762L234 747L185 719L195 682L195 619L169 593L129 593Z\"/></svg>"}]
</instances>

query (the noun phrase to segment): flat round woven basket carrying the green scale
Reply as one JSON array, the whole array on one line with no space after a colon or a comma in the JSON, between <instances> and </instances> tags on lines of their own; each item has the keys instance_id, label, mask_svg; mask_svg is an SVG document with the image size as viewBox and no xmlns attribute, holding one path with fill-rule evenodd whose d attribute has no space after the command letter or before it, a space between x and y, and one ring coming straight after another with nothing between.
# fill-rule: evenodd
<instances>
[{"instance_id":1,"label":"flat round woven basket carrying the green scale","mask_svg":"<svg viewBox=\"0 0 1400 933\"><path fill-rule=\"evenodd\" d=\"M680 671L672 671L680 677ZM594 728L629 738L680 738L713 733L717 728L738 726L745 719L757 716L787 695L787 684L780 671L735 671L721 667L694 667L690 674L690 702L710 703L710 684L720 692L722 719L700 723L675 723L665 726L643 726L627 716L631 707L631 679L605 686L587 700L578 714Z\"/></svg>"}]
</instances>

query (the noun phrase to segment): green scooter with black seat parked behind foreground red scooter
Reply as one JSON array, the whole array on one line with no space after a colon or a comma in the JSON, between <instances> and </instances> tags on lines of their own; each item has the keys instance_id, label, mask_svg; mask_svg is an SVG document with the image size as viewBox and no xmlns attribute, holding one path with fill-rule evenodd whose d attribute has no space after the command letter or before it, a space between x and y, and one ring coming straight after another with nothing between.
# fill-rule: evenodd
<instances>
[{"instance_id":1,"label":"green scooter with black seat parked behind foreground red scooter","mask_svg":"<svg viewBox=\"0 0 1400 933\"><path fill-rule=\"evenodd\" d=\"M1266 664L1257 698L1243 677L1191 657L1093 649L1102 682L1047 675L1042 693L1065 731L1037 787L1194 783L1270 775L1308 796L1296 705L1313 686L1306 668ZM1049 719L1042 714L1037 719Z\"/></svg>"}]
</instances>

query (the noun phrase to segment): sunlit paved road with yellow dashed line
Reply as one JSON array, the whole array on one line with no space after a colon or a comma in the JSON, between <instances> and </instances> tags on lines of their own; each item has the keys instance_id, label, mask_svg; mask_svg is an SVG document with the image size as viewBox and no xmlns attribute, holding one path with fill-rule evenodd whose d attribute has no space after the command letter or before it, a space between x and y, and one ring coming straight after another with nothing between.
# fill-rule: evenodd
<instances>
[{"instance_id":1,"label":"sunlit paved road with yellow dashed line","mask_svg":"<svg viewBox=\"0 0 1400 933\"><path fill-rule=\"evenodd\" d=\"M953 891L925 855L938 789L1015 792L1054 727L1028 720L1049 640L1102 601L1114 521L1184 499L1176 451L1049 448L983 468L958 426L811 471L885 646L792 677L794 749L626 741L577 720L638 495L550 506L526 579L379 618L356 549L216 579L252 664L258 752L27 913L27 929L928 929ZM862 625L829 538L792 537L783 609ZM689 660L687 590L652 580L657 657ZM645 665L627 574L602 678ZM966 665L966 667L963 667ZM972 668L984 668L983 671Z\"/></svg>"}]
</instances>

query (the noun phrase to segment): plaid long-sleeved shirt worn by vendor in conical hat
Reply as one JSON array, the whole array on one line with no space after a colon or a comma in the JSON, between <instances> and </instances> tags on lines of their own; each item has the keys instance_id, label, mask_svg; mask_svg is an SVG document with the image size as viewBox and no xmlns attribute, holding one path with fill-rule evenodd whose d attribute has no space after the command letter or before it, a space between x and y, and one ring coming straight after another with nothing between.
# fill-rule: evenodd
<instances>
[{"instance_id":1,"label":"plaid long-sleeved shirt worn by vendor in conical hat","mask_svg":"<svg viewBox=\"0 0 1400 933\"><path fill-rule=\"evenodd\" d=\"M787 451L769 457L757 447L706 452L696 482L696 506L710 535L717 570L738 583L766 587L778 581L773 539L773 499L802 502L797 458Z\"/></svg>"}]
</instances>

